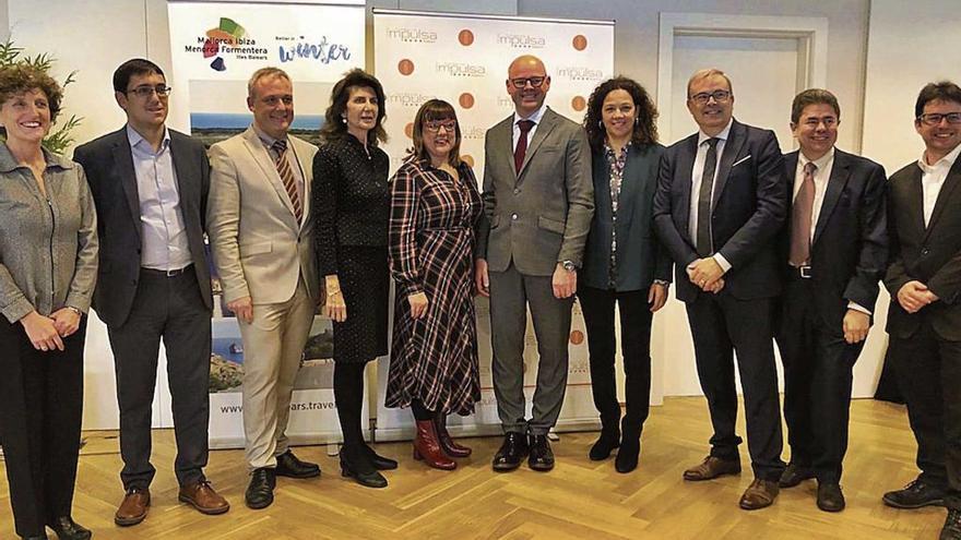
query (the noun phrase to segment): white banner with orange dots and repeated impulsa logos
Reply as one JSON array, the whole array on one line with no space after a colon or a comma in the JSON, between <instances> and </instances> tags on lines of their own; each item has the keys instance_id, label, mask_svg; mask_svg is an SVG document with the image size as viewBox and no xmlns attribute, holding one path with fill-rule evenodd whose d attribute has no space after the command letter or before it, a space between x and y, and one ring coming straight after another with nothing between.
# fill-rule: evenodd
<instances>
[{"instance_id":1,"label":"white banner with orange dots and repeated impulsa logos","mask_svg":"<svg viewBox=\"0 0 961 540\"><path fill-rule=\"evenodd\" d=\"M391 165L400 166L412 146L414 115L430 98L454 106L461 125L462 158L484 176L484 135L488 128L513 113L505 81L511 60L534 55L550 75L547 104L580 123L588 96L614 73L614 23L563 21L446 13L375 10L375 72L387 93L385 149ZM480 356L482 401L473 417L450 420L461 434L500 432L490 375L490 321L488 305L477 300L477 338ZM529 418L537 374L537 343L527 321L524 352L524 388ZM570 334L568 387L558 430L594 429L597 411L591 397L588 344L580 305L574 305ZM380 396L387 386L387 362L378 372ZM377 437L410 437L408 410L387 409L378 401Z\"/></svg>"}]
</instances>

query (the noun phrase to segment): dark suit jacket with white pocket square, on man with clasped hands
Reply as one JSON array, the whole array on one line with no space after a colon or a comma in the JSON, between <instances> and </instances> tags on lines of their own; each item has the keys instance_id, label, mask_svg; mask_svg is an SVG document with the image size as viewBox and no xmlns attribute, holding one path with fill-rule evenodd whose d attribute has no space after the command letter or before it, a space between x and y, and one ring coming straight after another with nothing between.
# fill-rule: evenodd
<instances>
[{"instance_id":1,"label":"dark suit jacket with white pocket square, on man with clasped hands","mask_svg":"<svg viewBox=\"0 0 961 540\"><path fill-rule=\"evenodd\" d=\"M700 259L688 232L690 197L697 196L691 195L697 145L695 133L664 152L654 196L654 224L677 263L677 298L685 302L701 292L687 276L687 266ZM781 292L774 236L787 215L787 183L774 132L734 120L714 179L710 216L716 252L731 263L724 291L734 298L770 298Z\"/></svg>"}]
</instances>

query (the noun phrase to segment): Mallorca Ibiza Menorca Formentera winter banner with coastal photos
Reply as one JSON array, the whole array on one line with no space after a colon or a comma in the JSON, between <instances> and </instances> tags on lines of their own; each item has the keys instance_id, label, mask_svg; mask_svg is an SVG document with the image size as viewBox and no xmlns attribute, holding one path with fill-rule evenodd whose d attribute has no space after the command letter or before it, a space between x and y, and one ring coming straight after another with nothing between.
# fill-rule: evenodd
<instances>
[{"instance_id":1,"label":"Mallorca Ibiza Menorca Formentera winter banner with coastal photos","mask_svg":"<svg viewBox=\"0 0 961 540\"><path fill-rule=\"evenodd\" d=\"M180 105L171 110L171 125L207 148L241 133L252 121L247 81L272 65L294 82L290 134L316 144L334 83L347 70L364 67L364 4L345 3L170 1L171 86ZM241 447L244 347L213 268L211 276L211 446ZM290 403L287 434L295 444L340 441L332 338L331 322L315 316Z\"/></svg>"}]
</instances>

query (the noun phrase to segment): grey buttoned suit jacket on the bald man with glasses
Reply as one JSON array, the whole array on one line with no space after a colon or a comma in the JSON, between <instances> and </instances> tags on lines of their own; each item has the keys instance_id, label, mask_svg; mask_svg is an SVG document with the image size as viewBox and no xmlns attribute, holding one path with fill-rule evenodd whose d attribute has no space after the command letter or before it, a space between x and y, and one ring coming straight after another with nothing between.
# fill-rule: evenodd
<instances>
[{"instance_id":1,"label":"grey buttoned suit jacket on the bald man with glasses","mask_svg":"<svg viewBox=\"0 0 961 540\"><path fill-rule=\"evenodd\" d=\"M580 125L544 111L514 171L513 115L484 141L484 213L476 256L503 272L549 276L557 263L581 266L594 212L591 148Z\"/></svg>"}]
</instances>

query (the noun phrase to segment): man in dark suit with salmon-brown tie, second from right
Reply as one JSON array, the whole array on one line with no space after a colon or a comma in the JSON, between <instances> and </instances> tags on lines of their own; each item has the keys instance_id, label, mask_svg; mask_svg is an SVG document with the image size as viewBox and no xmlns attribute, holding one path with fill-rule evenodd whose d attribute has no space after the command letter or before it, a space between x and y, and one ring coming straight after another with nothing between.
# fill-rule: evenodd
<instances>
[{"instance_id":1,"label":"man in dark suit with salmon-brown tie, second from right","mask_svg":"<svg viewBox=\"0 0 961 540\"><path fill-rule=\"evenodd\" d=\"M793 180L782 233L778 345L791 463L781 488L818 480L818 507L844 509L852 370L864 348L888 257L885 169L834 148L841 107L828 91L795 96L791 130L800 149L784 156Z\"/></svg>"}]
</instances>

